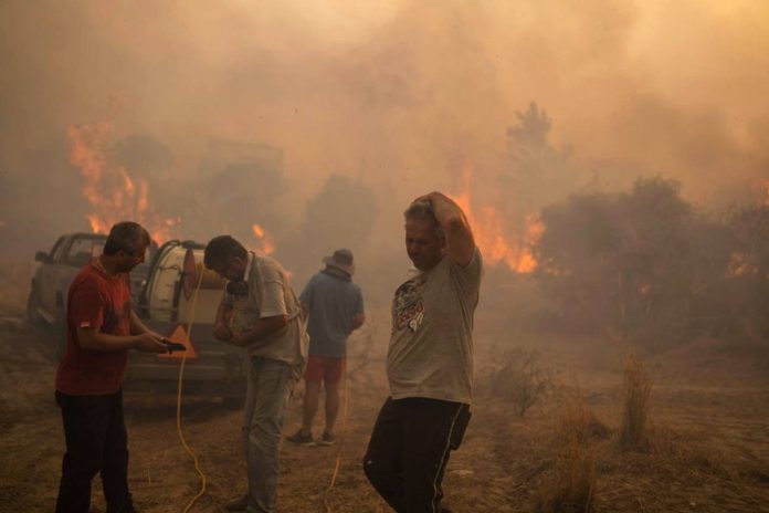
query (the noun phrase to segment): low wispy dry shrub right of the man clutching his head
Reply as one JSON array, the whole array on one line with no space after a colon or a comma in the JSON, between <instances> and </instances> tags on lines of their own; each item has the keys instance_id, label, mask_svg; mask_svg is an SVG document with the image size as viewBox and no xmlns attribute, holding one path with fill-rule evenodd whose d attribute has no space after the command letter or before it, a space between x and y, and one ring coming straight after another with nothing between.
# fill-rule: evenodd
<instances>
[{"instance_id":1,"label":"low wispy dry shrub right of the man clutching his head","mask_svg":"<svg viewBox=\"0 0 769 513\"><path fill-rule=\"evenodd\" d=\"M552 388L550 373L539 367L535 350L513 349L496 358L481 388L492 398L510 401L515 412L526 411Z\"/></svg>"}]
</instances>

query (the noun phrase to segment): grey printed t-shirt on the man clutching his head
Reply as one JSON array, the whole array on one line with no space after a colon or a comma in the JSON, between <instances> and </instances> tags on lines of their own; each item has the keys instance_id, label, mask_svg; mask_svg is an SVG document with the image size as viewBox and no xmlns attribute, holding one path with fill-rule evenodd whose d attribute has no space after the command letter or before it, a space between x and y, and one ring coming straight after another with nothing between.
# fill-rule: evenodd
<instances>
[{"instance_id":1,"label":"grey printed t-shirt on the man clutching his head","mask_svg":"<svg viewBox=\"0 0 769 513\"><path fill-rule=\"evenodd\" d=\"M444 258L398 287L387 354L393 399L471 402L473 314L482 278L476 248L466 268Z\"/></svg>"}]
</instances>

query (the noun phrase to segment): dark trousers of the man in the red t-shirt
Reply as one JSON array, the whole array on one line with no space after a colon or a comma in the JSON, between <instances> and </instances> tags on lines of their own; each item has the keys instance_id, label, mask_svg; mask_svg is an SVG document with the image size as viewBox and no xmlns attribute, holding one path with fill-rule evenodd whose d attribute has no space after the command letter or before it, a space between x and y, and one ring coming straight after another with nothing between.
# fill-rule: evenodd
<instances>
[{"instance_id":1,"label":"dark trousers of the man in the red t-shirt","mask_svg":"<svg viewBox=\"0 0 769 513\"><path fill-rule=\"evenodd\" d=\"M107 513L133 512L123 394L69 396L56 391L56 404L66 439L56 513L87 513L91 482L99 472Z\"/></svg>"}]
</instances>

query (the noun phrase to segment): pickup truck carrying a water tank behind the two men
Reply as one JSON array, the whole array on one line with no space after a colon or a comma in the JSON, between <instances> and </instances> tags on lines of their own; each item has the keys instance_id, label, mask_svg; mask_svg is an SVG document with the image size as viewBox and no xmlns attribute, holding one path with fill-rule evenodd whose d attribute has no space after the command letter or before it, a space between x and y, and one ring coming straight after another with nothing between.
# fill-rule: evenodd
<instances>
[{"instance_id":1,"label":"pickup truck carrying a water tank behind the two men","mask_svg":"<svg viewBox=\"0 0 769 513\"><path fill-rule=\"evenodd\" d=\"M28 316L36 325L53 326L61 357L65 344L66 297L70 284L92 256L102 252L106 235L71 233L59 238L40 262L30 287ZM203 245L191 241L152 244L148 262L130 274L134 308L143 322L183 344L185 352L152 355L131 350L124 379L126 391L176 390L181 357L185 391L222 397L239 406L245 397L247 359L240 348L213 338L213 320L224 281L202 264Z\"/></svg>"}]
</instances>

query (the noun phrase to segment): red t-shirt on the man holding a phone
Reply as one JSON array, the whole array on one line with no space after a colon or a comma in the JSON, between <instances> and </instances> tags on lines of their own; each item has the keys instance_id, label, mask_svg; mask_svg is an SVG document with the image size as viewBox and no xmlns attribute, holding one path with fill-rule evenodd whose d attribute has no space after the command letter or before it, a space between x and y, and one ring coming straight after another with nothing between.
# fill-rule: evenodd
<instances>
[{"instance_id":1,"label":"red t-shirt on the man holding a phone","mask_svg":"<svg viewBox=\"0 0 769 513\"><path fill-rule=\"evenodd\" d=\"M56 371L56 390L72 396L119 390L128 352L84 349L77 342L77 327L130 335L130 308L128 274L108 276L92 263L83 268L67 294L66 349Z\"/></svg>"}]
</instances>

